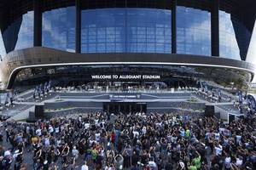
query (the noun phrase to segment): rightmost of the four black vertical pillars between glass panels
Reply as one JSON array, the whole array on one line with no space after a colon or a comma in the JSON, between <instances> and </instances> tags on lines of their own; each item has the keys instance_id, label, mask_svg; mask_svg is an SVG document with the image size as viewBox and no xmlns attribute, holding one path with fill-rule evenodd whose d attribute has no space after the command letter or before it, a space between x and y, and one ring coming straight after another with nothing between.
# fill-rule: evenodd
<instances>
[{"instance_id":1,"label":"rightmost of the four black vertical pillars between glass panels","mask_svg":"<svg viewBox=\"0 0 256 170\"><path fill-rule=\"evenodd\" d=\"M219 26L218 26L219 0L212 1L212 56L219 56Z\"/></svg>"}]
</instances>

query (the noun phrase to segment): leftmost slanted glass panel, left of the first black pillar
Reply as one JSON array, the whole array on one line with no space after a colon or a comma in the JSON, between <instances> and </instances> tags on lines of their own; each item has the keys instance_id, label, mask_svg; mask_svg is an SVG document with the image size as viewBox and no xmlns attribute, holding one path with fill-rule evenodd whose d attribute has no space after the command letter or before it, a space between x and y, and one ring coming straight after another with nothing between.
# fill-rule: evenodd
<instances>
[{"instance_id":1,"label":"leftmost slanted glass panel, left of the first black pillar","mask_svg":"<svg viewBox=\"0 0 256 170\"><path fill-rule=\"evenodd\" d=\"M1 49L1 53L9 53L15 49L31 48L33 46L33 21L34 12L29 11L26 14L22 14L19 19L15 20L10 26L8 26L8 28L3 31L3 43L5 50Z\"/></svg>"}]
</instances>

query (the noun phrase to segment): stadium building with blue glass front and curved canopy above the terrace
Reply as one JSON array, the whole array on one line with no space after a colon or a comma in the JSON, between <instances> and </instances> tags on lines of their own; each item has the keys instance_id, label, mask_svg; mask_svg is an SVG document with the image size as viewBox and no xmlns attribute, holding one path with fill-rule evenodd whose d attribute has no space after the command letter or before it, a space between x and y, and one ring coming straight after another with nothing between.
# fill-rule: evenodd
<instances>
[{"instance_id":1,"label":"stadium building with blue glass front and curved canopy above the terrace","mask_svg":"<svg viewBox=\"0 0 256 170\"><path fill-rule=\"evenodd\" d=\"M253 0L3 0L2 82L9 89L51 81L247 91L256 68L255 6Z\"/></svg>"}]
</instances>

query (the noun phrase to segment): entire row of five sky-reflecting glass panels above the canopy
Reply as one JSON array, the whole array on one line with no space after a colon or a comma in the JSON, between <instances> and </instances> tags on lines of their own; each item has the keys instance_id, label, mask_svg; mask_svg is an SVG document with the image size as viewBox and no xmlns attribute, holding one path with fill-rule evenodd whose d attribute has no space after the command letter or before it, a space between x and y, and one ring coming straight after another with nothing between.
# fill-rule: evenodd
<instances>
[{"instance_id":1,"label":"entire row of five sky-reflecting glass panels above the canopy","mask_svg":"<svg viewBox=\"0 0 256 170\"><path fill-rule=\"evenodd\" d=\"M178 5L177 54L211 56L211 13L201 7ZM255 38L247 30L247 20L235 14L219 11L219 54L223 58L245 60L248 54L253 56L250 43ZM33 46L33 21L34 12L29 11L12 24L6 22L0 36L2 56ZM36 43L40 44L38 39ZM42 46L74 53L75 45L76 7L42 12ZM80 48L81 53L172 54L172 11L160 8L82 9Z\"/></svg>"}]
</instances>

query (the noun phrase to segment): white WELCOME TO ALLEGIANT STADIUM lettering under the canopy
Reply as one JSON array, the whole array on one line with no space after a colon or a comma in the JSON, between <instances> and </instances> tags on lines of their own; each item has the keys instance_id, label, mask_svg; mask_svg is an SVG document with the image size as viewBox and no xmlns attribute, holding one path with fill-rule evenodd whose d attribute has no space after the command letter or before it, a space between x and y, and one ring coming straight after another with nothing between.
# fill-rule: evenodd
<instances>
[{"instance_id":1,"label":"white WELCOME TO ALLEGIANT STADIUM lettering under the canopy","mask_svg":"<svg viewBox=\"0 0 256 170\"><path fill-rule=\"evenodd\" d=\"M157 80L160 75L91 75L96 80Z\"/></svg>"}]
</instances>

